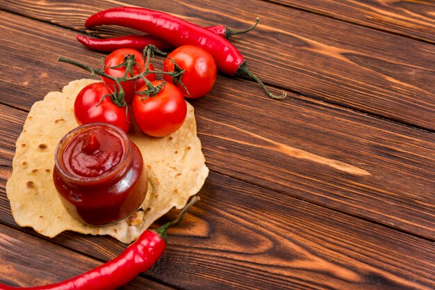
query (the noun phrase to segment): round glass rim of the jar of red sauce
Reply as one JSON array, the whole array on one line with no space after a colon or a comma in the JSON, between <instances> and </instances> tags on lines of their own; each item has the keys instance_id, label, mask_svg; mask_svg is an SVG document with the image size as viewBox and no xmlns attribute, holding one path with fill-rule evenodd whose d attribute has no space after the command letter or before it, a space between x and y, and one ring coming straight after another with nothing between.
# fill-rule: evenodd
<instances>
[{"instance_id":1,"label":"round glass rim of the jar of red sauce","mask_svg":"<svg viewBox=\"0 0 435 290\"><path fill-rule=\"evenodd\" d=\"M87 131L92 127L106 127L113 131L117 136L120 136L120 140L123 147L122 159L114 168L111 168L107 172L104 172L102 175L98 175L95 177L81 177L79 175L72 175L71 172L65 169L65 163L63 161L63 153L69 141L71 141L75 136L79 135L83 131ZM118 176L121 176L126 172L129 168L129 163L131 163L131 144L130 144L129 136L122 131L119 127L116 127L113 124L108 124L104 122L94 122L89 124L83 124L79 127L76 127L69 131L62 139L60 139L58 145L56 146L56 151L54 153L54 164L56 170L60 177L65 179L65 182L69 184L77 184L80 186L92 186L92 185L104 185L106 182L111 182Z\"/></svg>"}]
</instances>

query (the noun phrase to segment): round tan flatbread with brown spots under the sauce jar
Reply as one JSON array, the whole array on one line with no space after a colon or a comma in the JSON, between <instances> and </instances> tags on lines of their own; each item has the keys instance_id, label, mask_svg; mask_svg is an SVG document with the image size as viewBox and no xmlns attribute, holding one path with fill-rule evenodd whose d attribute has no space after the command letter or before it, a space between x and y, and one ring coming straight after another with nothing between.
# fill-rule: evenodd
<instances>
[{"instance_id":1,"label":"round tan flatbread with brown spots under the sauce jar","mask_svg":"<svg viewBox=\"0 0 435 290\"><path fill-rule=\"evenodd\" d=\"M172 207L181 209L202 188L208 168L197 137L195 114L188 104L183 126L174 134L152 138L132 128L149 175L147 197L133 216L113 225L91 226L75 220L63 208L53 183L54 151L60 139L77 127L74 99L96 80L72 81L62 92L49 92L33 104L16 143L13 172L6 184L15 222L54 237L71 230L83 234L108 234L131 243Z\"/></svg>"}]
</instances>

